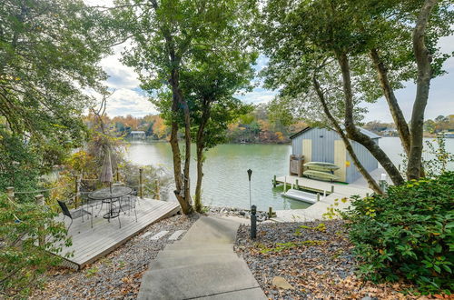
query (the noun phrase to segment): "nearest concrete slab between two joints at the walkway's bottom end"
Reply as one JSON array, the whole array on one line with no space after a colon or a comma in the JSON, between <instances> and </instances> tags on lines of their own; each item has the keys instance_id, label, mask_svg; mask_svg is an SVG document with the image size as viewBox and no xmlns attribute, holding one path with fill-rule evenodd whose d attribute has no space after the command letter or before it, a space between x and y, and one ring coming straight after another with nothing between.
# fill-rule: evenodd
<instances>
[{"instance_id":1,"label":"nearest concrete slab between two joints at the walkway's bottom end","mask_svg":"<svg viewBox=\"0 0 454 300\"><path fill-rule=\"evenodd\" d=\"M188 299L259 287L244 261L189 265L146 272L138 299Z\"/></svg>"}]
</instances>

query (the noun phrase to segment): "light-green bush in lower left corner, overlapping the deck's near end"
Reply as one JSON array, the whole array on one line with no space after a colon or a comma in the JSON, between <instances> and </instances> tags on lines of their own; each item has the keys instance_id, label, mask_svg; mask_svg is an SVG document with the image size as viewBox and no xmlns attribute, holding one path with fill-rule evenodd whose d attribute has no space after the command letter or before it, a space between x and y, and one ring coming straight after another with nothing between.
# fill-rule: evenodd
<instances>
[{"instance_id":1,"label":"light-green bush in lower left corner, overlapping the deck's near end","mask_svg":"<svg viewBox=\"0 0 454 300\"><path fill-rule=\"evenodd\" d=\"M54 216L43 206L0 194L0 298L25 297L30 287L39 284L40 275L60 262L49 252L60 252L71 240Z\"/></svg>"}]
</instances>

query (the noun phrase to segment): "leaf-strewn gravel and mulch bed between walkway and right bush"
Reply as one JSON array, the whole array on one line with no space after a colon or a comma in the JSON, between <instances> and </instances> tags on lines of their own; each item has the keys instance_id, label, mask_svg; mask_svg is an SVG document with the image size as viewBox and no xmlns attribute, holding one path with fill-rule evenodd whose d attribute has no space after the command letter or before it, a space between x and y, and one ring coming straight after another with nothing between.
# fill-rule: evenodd
<instances>
[{"instance_id":1,"label":"leaf-strewn gravel and mulch bed between walkway and right bush","mask_svg":"<svg viewBox=\"0 0 454 300\"><path fill-rule=\"evenodd\" d=\"M402 283L375 285L355 276L352 245L340 220L261 224L251 240L250 226L238 231L235 251L271 299L410 299ZM283 277L293 289L273 285Z\"/></svg>"}]
</instances>

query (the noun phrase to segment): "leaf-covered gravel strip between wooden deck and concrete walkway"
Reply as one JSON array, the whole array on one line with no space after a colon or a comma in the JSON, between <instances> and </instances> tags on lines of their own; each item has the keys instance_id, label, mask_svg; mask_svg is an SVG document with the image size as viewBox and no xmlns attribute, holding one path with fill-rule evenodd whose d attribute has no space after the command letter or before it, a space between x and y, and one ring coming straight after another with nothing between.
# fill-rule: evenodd
<instances>
[{"instance_id":1,"label":"leaf-covered gravel strip between wooden deck and concrete walkway","mask_svg":"<svg viewBox=\"0 0 454 300\"><path fill-rule=\"evenodd\" d=\"M142 234L81 271L52 269L47 274L44 289L36 290L30 298L135 299L148 264L165 245L173 243L168 237L176 230L189 229L197 219L197 214L176 215L150 225ZM156 241L150 239L163 230L169 233ZM147 236L143 237L144 234Z\"/></svg>"}]
</instances>

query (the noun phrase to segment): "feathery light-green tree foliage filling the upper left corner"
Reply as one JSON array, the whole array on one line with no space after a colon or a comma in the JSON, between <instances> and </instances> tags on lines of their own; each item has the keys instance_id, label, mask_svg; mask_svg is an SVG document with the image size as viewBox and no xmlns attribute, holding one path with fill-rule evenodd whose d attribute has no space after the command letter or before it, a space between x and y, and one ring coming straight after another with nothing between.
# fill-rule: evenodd
<instances>
[{"instance_id":1,"label":"feathery light-green tree foliage filling the upper left corner","mask_svg":"<svg viewBox=\"0 0 454 300\"><path fill-rule=\"evenodd\" d=\"M103 89L97 63L112 35L83 1L5 0L0 20L3 132L33 153L34 172L45 173L81 142L80 115L91 101L83 91ZM14 155L2 155L0 174L11 175L3 169L6 157L22 163Z\"/></svg>"}]
</instances>

